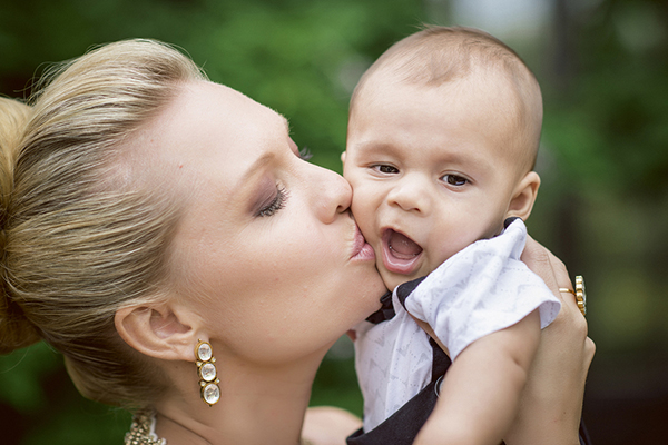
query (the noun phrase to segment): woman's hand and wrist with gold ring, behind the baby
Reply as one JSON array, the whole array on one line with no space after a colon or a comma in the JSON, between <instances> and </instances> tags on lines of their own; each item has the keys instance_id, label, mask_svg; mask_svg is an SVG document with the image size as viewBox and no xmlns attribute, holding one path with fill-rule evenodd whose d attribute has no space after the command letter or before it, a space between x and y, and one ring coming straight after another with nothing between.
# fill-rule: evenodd
<instances>
[{"instance_id":1,"label":"woman's hand and wrist with gold ring, behind the baby","mask_svg":"<svg viewBox=\"0 0 668 445\"><path fill-rule=\"evenodd\" d=\"M596 347L587 337L587 320L572 294L559 293L559 288L572 289L563 263L531 237L522 260L561 300L561 310L541 333L518 417L505 443L579 444L584 380Z\"/></svg>"}]
</instances>

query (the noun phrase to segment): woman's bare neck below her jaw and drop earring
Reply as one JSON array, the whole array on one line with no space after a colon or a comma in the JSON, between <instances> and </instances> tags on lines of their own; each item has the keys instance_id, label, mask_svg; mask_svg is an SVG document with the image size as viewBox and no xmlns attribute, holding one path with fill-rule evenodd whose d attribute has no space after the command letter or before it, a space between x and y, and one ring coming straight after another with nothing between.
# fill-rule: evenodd
<instances>
[{"instance_id":1,"label":"woman's bare neck below her jaw and drop earring","mask_svg":"<svg viewBox=\"0 0 668 445\"><path fill-rule=\"evenodd\" d=\"M156 433L168 445L296 445L316 370L222 367L220 400L206 406L197 388L169 397L157 406Z\"/></svg>"}]
</instances>

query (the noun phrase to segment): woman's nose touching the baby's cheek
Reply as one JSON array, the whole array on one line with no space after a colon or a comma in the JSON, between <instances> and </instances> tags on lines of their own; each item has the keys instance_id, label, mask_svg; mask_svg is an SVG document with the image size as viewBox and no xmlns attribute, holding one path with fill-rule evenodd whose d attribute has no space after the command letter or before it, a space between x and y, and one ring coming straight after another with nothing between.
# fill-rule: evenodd
<instances>
[{"instance_id":1,"label":"woman's nose touching the baby's cheek","mask_svg":"<svg viewBox=\"0 0 668 445\"><path fill-rule=\"evenodd\" d=\"M333 222L351 207L353 190L341 175L318 166L312 167L317 169L310 186L313 187L313 204L317 217L325 224Z\"/></svg>"}]
</instances>

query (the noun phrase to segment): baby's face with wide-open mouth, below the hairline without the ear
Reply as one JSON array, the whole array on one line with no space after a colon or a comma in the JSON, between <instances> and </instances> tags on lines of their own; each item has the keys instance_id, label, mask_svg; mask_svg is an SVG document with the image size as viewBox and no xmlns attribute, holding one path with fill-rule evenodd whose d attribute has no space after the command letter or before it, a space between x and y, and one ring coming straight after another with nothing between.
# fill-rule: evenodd
<instances>
[{"instance_id":1,"label":"baby's face with wide-open mouth, below the hairline without the ear","mask_svg":"<svg viewBox=\"0 0 668 445\"><path fill-rule=\"evenodd\" d=\"M373 81L373 79L372 79ZM494 86L367 83L351 116L344 177L387 288L502 229L520 175Z\"/></svg>"}]
</instances>

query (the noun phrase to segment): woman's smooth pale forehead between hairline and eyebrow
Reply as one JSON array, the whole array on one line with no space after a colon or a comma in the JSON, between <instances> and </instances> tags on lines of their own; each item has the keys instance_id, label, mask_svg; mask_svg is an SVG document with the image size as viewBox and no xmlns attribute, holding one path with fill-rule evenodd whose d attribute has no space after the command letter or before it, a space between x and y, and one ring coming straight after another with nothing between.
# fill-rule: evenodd
<instances>
[{"instance_id":1,"label":"woman's smooth pale forehead between hairline and eyebrow","mask_svg":"<svg viewBox=\"0 0 668 445\"><path fill-rule=\"evenodd\" d=\"M283 116L234 89L193 81L124 142L118 167L137 185L190 198L210 187L225 195L238 190L263 158L284 149L287 131Z\"/></svg>"}]
</instances>

